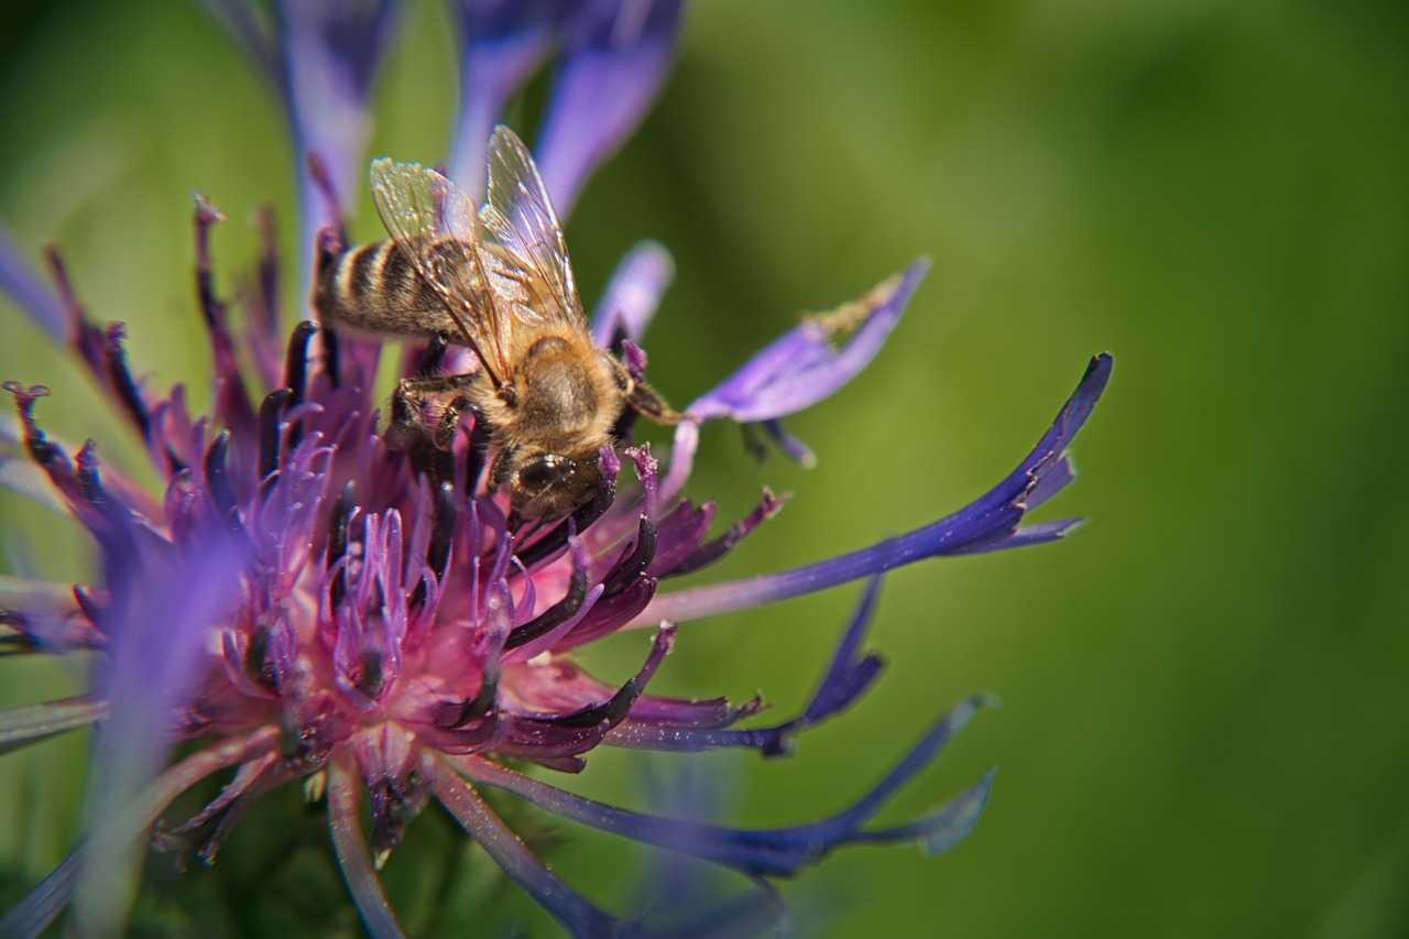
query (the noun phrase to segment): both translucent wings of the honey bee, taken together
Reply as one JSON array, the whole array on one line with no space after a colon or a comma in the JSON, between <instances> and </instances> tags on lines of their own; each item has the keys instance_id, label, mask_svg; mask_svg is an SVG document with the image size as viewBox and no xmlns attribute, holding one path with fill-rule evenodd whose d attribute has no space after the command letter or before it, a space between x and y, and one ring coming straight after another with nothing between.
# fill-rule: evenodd
<instances>
[{"instance_id":1,"label":"both translucent wings of the honey bee, taken together","mask_svg":"<svg viewBox=\"0 0 1409 939\"><path fill-rule=\"evenodd\" d=\"M511 372L513 331L562 326L586 333L562 227L523 141L495 128L489 186L475 206L420 164L372 161L372 199L387 234L440 296L495 383ZM454 337L452 337L454 338Z\"/></svg>"}]
</instances>

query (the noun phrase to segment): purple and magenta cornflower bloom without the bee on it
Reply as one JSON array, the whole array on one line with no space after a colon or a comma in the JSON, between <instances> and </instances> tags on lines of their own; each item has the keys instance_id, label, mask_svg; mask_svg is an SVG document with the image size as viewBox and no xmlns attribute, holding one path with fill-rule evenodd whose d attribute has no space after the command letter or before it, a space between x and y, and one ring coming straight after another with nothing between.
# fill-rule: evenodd
<instances>
[{"instance_id":1,"label":"purple and magenta cornflower bloom without the bee on it","mask_svg":"<svg viewBox=\"0 0 1409 939\"><path fill-rule=\"evenodd\" d=\"M395 8L382 3L359 13L318 13L320 4L289 0L279 7L282 32L263 32L241 18L242 7L214 6L278 79L294 138L317 158L303 199L306 209L323 204L304 216L303 244L313 244L311 226L341 227L335 207L348 193L335 168L359 154L376 37ZM358 28L338 20L354 16L371 18L352 24ZM568 10L466 1L466 90L452 165L468 169L457 172L482 173L465 155L465 141L478 138L482 155L504 100L557 45L562 66L540 159L555 200L571 204L658 87L678 23L678 3L602 1ZM310 117L327 94L358 121ZM334 131L348 127L355 140L338 140ZM213 206L197 200L197 306L214 381L209 415L193 415L180 386L161 395L132 376L123 327L99 324L83 310L56 257L58 289L51 292L0 240L0 286L70 344L165 481L162 492L147 492L100 462L92 444L52 440L41 424L48 391L6 385L18 424L0 440L0 478L25 492L56 495L94 539L101 570L90 585L6 581L0 644L15 654L94 650L103 665L89 694L0 715L0 751L96 722L106 728L94 753L94 773L104 780L92 806L99 823L0 919L0 933L39 932L80 883L100 881L127 842L213 774L228 780L220 795L185 822L163 825L158 846L213 861L259 797L304 780L325 798L340 867L376 936L400 935L376 871L433 801L569 931L610 935L635 926L562 883L485 801L486 788L758 883L792 876L848 845L910 842L941 852L971 830L992 771L920 818L868 823L982 706L982 696L940 716L854 802L788 828L650 816L573 795L517 767L576 773L600 744L786 753L797 733L844 711L876 680L882 663L864 654L862 643L879 574L927 557L1048 541L1074 524L1022 523L1071 482L1067 446L1105 388L1109 357L1091 362L1036 448L969 506L838 558L672 592L668 578L731 551L781 505L765 492L750 515L712 537L713 505L683 495L699 423L757 423L786 453L805 458L806 448L781 419L865 367L923 265L833 314L802 321L690 403L692 420L676 429L664 472L650 447L628 446L624 420L619 437L626 446L603 450L603 482L592 502L547 524L513 526L504 498L485 489L483 434L473 419L462 423L448 453L396 453L378 433L383 402L372 391L383 350L311 321L286 333L275 303L272 240L259 289L245 297L238 323L228 314L210 266L218 220ZM640 343L668 279L662 248L634 250L593 320L597 343L638 376L647 367ZM442 364L442 355L438 347L411 350L403 371ZM265 391L251 395L254 388ZM647 691L672 649L675 623L859 578L869 578L862 603L797 716L757 726L750 720L757 699L731 705ZM623 629L652 630L627 681L604 684L573 663L573 649ZM169 760L178 743L185 744L180 757ZM369 835L361 830L364 797ZM761 895L766 901L771 894ZM111 897L96 897L87 908L80 901L79 915L114 908Z\"/></svg>"}]
</instances>

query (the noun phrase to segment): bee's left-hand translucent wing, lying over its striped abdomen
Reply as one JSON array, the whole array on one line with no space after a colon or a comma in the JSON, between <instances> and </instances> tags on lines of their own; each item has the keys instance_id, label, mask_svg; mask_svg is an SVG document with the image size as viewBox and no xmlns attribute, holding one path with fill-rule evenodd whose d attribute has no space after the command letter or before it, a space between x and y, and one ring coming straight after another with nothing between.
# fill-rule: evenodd
<instances>
[{"instance_id":1,"label":"bee's left-hand translucent wing, lying over its striped abdomen","mask_svg":"<svg viewBox=\"0 0 1409 939\"><path fill-rule=\"evenodd\" d=\"M392 241L440 296L496 385L510 371L503 303L486 289L479 220L459 186L420 164L383 156L368 171L372 202ZM486 309L488 307L488 309Z\"/></svg>"}]
</instances>

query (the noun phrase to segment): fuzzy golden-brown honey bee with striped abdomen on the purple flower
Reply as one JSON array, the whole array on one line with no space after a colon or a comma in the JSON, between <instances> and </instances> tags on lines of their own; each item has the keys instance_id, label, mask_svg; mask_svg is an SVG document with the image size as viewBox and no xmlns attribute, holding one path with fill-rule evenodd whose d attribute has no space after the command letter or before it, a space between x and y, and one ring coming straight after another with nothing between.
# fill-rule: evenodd
<instances>
[{"instance_id":1,"label":"fuzzy golden-brown honey bee with striped abdomen on the purple flower","mask_svg":"<svg viewBox=\"0 0 1409 939\"><path fill-rule=\"evenodd\" d=\"M562 227L533 155L504 125L488 151L488 197L472 200L434 169L372 162L372 197L390 238L320 247L313 305L361 333L464 344L465 375L404 378L385 438L395 450L448 450L466 413L495 453L489 486L524 519L590 501L599 451L624 406L661 423L681 416L614 355L592 344Z\"/></svg>"}]
</instances>

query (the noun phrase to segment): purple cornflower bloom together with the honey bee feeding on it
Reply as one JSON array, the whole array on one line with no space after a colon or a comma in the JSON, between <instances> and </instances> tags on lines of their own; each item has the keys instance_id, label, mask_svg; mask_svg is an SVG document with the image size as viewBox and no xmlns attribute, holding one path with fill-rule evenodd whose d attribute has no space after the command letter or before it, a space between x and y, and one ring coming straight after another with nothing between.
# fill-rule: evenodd
<instances>
[{"instance_id":1,"label":"purple cornflower bloom together with the honey bee feeding on it","mask_svg":"<svg viewBox=\"0 0 1409 939\"><path fill-rule=\"evenodd\" d=\"M244 316L230 316L210 264L221 214L199 199L196 305L214 393L210 412L196 415L180 386L159 393L134 378L124 327L90 316L56 254L49 288L0 241L0 288L120 405L162 481L148 491L90 443L52 438L44 399L62 392L4 385L17 416L17 433L0 440L6 478L54 493L96 543L100 567L72 584L4 581L0 649L90 650L103 665L82 695L0 713L0 750L100 725L92 773L104 784L93 790L89 836L3 914L0 933L38 935L70 904L79 932L116 929L131 845L149 837L213 863L258 799L296 784L325 805L338 866L373 936L402 935L379 870L433 802L571 933L661 925L579 894L489 792L743 874L754 898L712 914L714 926L743 931L776 921L769 878L836 849L941 852L961 840L992 771L909 822L871 819L983 705L979 695L921 729L854 802L803 825L655 816L548 780L582 771L599 746L782 754L847 709L882 668L862 651L881 574L1050 541L1074 524L1023 522L1072 481L1067 446L1105 389L1109 357L1092 360L1034 450L969 506L843 557L671 589L669 578L730 553L781 505L765 491L712 534L713 503L683 495L700 424L758 424L796 451L778 422L871 361L924 265L802 321L675 412L647 382L641 350L669 255L650 243L633 250L589 319L558 213L654 97L681 3L459 4L465 85L449 173L373 162L390 240L361 248L348 248L341 204L355 193L368 87L396 6L289 0L278 31L249 7L211 6L271 69L293 128L310 319L279 320L272 279L245 296ZM558 79L533 154L492 128L545 56L557 56ZM479 179L488 182L476 204ZM271 238L266 271L276 258ZM376 334L387 331L426 340L402 362L390 402L373 391L386 355ZM634 444L637 415L675 427L664 471ZM681 623L855 579L868 584L859 608L797 716L759 725L757 699L648 691ZM640 667L624 682L602 682L575 661L573 650L624 630L644 630ZM218 795L170 818L178 797L207 778L221 780ZM697 925L672 921L669 904L657 912L668 928Z\"/></svg>"}]
</instances>

